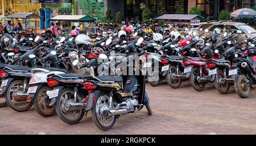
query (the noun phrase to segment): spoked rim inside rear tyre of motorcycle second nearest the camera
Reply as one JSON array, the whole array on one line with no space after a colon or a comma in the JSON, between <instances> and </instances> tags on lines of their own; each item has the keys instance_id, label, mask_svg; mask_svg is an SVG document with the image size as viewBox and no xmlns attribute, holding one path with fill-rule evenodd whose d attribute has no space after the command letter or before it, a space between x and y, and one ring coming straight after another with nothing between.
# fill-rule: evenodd
<instances>
[{"instance_id":1,"label":"spoked rim inside rear tyre of motorcycle second nearest the camera","mask_svg":"<svg viewBox=\"0 0 256 146\"><path fill-rule=\"evenodd\" d=\"M77 95L77 99L81 101L81 97ZM66 119L69 119L71 121L75 121L77 118L79 118L82 114L82 110L73 110L73 111L67 111L65 110L65 104L70 101L74 100L74 92L73 91L67 91L63 93L63 95L60 97L60 112Z\"/></svg>"}]
</instances>

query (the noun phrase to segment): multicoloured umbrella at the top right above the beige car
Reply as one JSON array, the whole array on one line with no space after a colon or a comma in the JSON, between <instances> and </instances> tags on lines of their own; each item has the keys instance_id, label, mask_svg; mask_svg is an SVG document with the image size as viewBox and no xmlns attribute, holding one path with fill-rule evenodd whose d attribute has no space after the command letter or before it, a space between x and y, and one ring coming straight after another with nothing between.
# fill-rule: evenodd
<instances>
[{"instance_id":1,"label":"multicoloured umbrella at the top right above the beige car","mask_svg":"<svg viewBox=\"0 0 256 146\"><path fill-rule=\"evenodd\" d=\"M233 11L230 16L238 19L255 18L256 11L251 8L240 8Z\"/></svg>"}]
</instances>

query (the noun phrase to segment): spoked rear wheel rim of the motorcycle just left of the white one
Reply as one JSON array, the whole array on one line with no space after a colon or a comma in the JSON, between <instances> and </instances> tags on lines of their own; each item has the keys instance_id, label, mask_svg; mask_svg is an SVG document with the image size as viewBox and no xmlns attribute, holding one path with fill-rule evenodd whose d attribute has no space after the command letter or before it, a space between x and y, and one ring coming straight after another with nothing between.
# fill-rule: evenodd
<instances>
[{"instance_id":1,"label":"spoked rear wheel rim of the motorcycle just left of the white one","mask_svg":"<svg viewBox=\"0 0 256 146\"><path fill-rule=\"evenodd\" d=\"M26 86L26 90L27 91L28 86ZM11 100L11 104L13 104L14 106L16 106L17 108L23 109L23 108L27 108L28 105L30 105L31 101L15 101L13 98L13 93L15 91L23 91L23 83L16 83L14 84L9 91L9 95L10 95L10 100Z\"/></svg>"}]
</instances>

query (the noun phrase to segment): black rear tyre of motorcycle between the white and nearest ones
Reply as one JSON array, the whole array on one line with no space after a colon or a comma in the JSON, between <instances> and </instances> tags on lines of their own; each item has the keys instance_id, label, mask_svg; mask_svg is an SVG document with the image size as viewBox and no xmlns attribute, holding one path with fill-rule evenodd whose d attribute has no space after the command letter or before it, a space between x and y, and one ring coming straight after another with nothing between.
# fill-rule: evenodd
<instances>
[{"instance_id":1,"label":"black rear tyre of motorcycle between the white and nearest ones","mask_svg":"<svg viewBox=\"0 0 256 146\"><path fill-rule=\"evenodd\" d=\"M82 117L84 117L84 110L80 110L79 111L79 115L77 116L77 118L75 118L75 119L70 119L70 118L68 118L68 117L66 117L65 115L64 115L64 113L63 113L63 110L62 110L62 108L61 108L61 97L62 97L62 95L64 95L64 93L73 93L73 88L64 88L61 92L60 92L60 94L59 94L59 96L57 97L57 101L56 101L56 105L55 105L55 110L56 110L56 113L57 113L57 115L59 116L59 118L63 121L63 122L65 122L65 123L67 123L67 124L77 124L77 123L79 123L80 121L81 121L81 119L82 119ZM81 96L81 94L80 93L77 93L77 95L79 95L79 96ZM75 111L74 111L75 112Z\"/></svg>"}]
</instances>

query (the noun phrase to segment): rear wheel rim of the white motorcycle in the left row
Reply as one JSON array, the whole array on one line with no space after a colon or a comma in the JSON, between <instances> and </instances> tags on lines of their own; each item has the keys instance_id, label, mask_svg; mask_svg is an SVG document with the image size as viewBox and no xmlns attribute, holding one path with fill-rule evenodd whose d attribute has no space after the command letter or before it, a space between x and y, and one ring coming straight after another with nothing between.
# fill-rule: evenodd
<instances>
[{"instance_id":1,"label":"rear wheel rim of the white motorcycle in the left row","mask_svg":"<svg viewBox=\"0 0 256 146\"><path fill-rule=\"evenodd\" d=\"M51 100L49 100L49 97L47 96L46 92L48 90L44 90L42 92L40 92L40 94L38 95L38 104L39 104L39 108L46 112L46 113L51 113L52 110L55 110L54 106L49 106Z\"/></svg>"}]
</instances>

